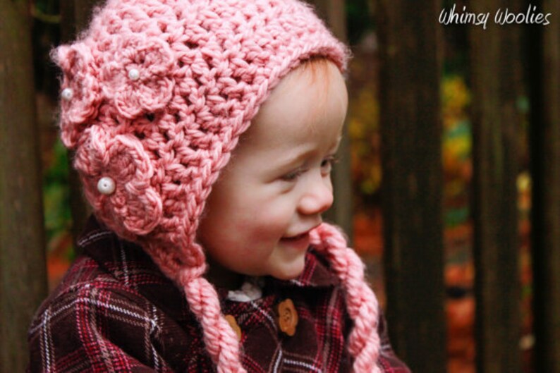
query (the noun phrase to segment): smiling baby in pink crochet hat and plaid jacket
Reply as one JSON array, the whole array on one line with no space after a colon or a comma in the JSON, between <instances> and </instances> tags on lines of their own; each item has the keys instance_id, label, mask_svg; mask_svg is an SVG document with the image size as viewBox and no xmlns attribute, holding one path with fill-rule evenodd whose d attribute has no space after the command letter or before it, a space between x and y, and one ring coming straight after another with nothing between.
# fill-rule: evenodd
<instances>
[{"instance_id":1,"label":"smiling baby in pink crochet hat and plaid jacket","mask_svg":"<svg viewBox=\"0 0 560 373\"><path fill-rule=\"evenodd\" d=\"M409 372L332 203L348 52L296 0L109 0L63 71L94 211L31 372Z\"/></svg>"}]
</instances>

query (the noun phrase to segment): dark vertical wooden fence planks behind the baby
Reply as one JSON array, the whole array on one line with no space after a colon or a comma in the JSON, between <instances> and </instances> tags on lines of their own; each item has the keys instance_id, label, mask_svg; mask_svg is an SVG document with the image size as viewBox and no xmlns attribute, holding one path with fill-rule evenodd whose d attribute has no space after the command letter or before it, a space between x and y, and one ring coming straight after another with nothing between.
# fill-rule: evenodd
<instances>
[{"instance_id":1,"label":"dark vertical wooden fence planks behind the baby","mask_svg":"<svg viewBox=\"0 0 560 373\"><path fill-rule=\"evenodd\" d=\"M63 39L96 1L61 0ZM343 1L313 1L344 37ZM473 0L471 11L528 6ZM515 109L530 82L535 372L560 373L560 3L547 26L468 26L473 89L477 372L521 372ZM416 373L446 370L442 244L440 1L379 0L384 270L394 347ZM23 372L26 330L47 295L29 2L0 1L0 372ZM491 22L490 22L491 23ZM466 27L466 26L465 26ZM527 41L524 49L520 40ZM527 63L522 66L521 56ZM512 78L513 77L513 78ZM348 166L336 171L334 218L351 222ZM75 201L80 201L79 197ZM80 206L73 202L75 206ZM85 215L75 209L75 217Z\"/></svg>"}]
</instances>

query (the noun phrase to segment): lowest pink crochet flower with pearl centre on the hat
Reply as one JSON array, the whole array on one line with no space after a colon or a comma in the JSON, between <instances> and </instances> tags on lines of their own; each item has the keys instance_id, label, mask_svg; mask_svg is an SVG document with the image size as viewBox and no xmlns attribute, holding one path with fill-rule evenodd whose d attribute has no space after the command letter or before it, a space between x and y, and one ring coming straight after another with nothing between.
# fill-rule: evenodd
<instances>
[{"instance_id":1,"label":"lowest pink crochet flower with pearl centre on the hat","mask_svg":"<svg viewBox=\"0 0 560 373\"><path fill-rule=\"evenodd\" d=\"M75 155L75 167L96 214L117 233L150 233L162 219L162 199L150 185L154 169L141 142L130 134L113 135L87 128Z\"/></svg>"}]
</instances>

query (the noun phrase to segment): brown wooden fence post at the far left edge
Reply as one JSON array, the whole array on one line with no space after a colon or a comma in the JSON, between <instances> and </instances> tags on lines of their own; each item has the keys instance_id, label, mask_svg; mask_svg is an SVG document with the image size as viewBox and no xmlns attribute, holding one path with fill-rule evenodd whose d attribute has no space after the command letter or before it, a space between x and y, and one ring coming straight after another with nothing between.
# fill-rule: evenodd
<instances>
[{"instance_id":1,"label":"brown wooden fence post at the far left edge","mask_svg":"<svg viewBox=\"0 0 560 373\"><path fill-rule=\"evenodd\" d=\"M29 1L0 1L0 372L24 372L47 295Z\"/></svg>"}]
</instances>

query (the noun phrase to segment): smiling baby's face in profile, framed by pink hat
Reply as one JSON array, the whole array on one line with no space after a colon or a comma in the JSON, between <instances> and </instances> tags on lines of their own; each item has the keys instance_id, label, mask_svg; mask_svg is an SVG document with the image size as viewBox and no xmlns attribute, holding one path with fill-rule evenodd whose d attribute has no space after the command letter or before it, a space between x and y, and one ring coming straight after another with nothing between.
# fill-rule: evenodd
<instances>
[{"instance_id":1,"label":"smiling baby's face in profile, framed by pink hat","mask_svg":"<svg viewBox=\"0 0 560 373\"><path fill-rule=\"evenodd\" d=\"M348 104L333 63L289 73L261 106L207 201L198 239L210 279L293 279L303 271L309 231L333 200L331 164Z\"/></svg>"}]
</instances>

